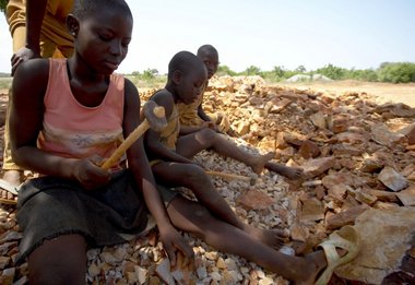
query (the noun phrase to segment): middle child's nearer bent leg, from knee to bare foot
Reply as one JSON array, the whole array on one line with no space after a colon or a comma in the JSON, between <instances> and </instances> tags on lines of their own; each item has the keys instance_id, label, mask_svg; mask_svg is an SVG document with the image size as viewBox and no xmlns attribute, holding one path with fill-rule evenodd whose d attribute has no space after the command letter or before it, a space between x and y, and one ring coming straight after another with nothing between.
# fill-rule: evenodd
<instances>
[{"instance_id":1,"label":"middle child's nearer bent leg, from knee to bare foot","mask_svg":"<svg viewBox=\"0 0 415 285\"><path fill-rule=\"evenodd\" d=\"M245 230L250 236L275 249L283 245L281 230L262 229L242 223L229 204L216 191L204 170L194 164L159 163L152 167L154 177L162 183L189 188L198 201L220 219Z\"/></svg>"}]
</instances>

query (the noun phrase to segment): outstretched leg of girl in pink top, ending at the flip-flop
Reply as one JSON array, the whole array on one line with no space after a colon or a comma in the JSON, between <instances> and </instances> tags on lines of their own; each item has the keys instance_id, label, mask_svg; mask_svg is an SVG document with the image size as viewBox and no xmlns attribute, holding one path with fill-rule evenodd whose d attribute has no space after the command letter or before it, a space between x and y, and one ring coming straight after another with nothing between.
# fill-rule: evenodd
<instances>
[{"instance_id":1,"label":"outstretched leg of girl in pink top, ending at the flip-flop","mask_svg":"<svg viewBox=\"0 0 415 285\"><path fill-rule=\"evenodd\" d=\"M312 284L317 273L327 265L322 251L306 258L280 253L183 197L173 200L167 212L176 227L190 231L222 252L240 256L296 284Z\"/></svg>"}]
</instances>

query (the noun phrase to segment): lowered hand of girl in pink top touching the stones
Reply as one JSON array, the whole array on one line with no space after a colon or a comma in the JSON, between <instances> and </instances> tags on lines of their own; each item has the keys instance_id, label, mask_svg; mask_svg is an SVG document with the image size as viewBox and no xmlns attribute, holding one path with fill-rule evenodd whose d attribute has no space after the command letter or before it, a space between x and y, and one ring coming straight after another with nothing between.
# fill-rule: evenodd
<instances>
[{"instance_id":1,"label":"lowered hand of girl in pink top touching the stones","mask_svg":"<svg viewBox=\"0 0 415 285\"><path fill-rule=\"evenodd\" d=\"M188 266L194 262L193 249L173 226L158 227L158 230L171 268L176 266L178 251L185 256L185 262L180 265Z\"/></svg>"}]
</instances>

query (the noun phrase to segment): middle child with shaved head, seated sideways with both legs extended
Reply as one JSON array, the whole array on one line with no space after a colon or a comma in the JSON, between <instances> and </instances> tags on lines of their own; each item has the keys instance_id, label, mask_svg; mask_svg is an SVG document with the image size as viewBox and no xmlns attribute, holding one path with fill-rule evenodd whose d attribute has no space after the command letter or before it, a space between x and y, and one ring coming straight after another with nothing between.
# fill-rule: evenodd
<instances>
[{"instance_id":1,"label":"middle child with shaved head, seated sideways with both legs extended","mask_svg":"<svg viewBox=\"0 0 415 285\"><path fill-rule=\"evenodd\" d=\"M221 221L244 230L258 241L272 248L282 245L281 230L260 229L242 223L213 186L205 170L191 161L201 150L212 147L221 154L242 161L259 174L273 153L252 155L240 150L211 129L197 131L194 127L181 128L178 104L191 104L200 95L208 80L206 69L200 58L189 51L176 54L168 66L168 82L164 90L156 92L150 100L165 108L167 128L162 132L150 129L145 133L145 147L156 181L167 187L186 187L198 201ZM179 135L188 133L187 135ZM167 204L174 203L176 192L162 191ZM168 195L169 199L165 197ZM167 200L167 201L166 201Z\"/></svg>"}]
</instances>

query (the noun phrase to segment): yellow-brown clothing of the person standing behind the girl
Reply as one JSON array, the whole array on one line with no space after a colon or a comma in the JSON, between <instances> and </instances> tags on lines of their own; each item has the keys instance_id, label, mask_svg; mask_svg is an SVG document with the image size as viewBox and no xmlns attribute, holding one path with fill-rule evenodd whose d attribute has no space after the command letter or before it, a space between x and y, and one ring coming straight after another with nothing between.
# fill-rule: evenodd
<instances>
[{"instance_id":1,"label":"yellow-brown clothing of the person standing behind the girl","mask_svg":"<svg viewBox=\"0 0 415 285\"><path fill-rule=\"evenodd\" d=\"M73 52L73 37L69 34L66 17L71 12L73 0L49 0L46 5L40 31L40 56L43 58L69 58ZM26 44L26 1L10 0L5 17L13 39L13 52ZM9 91L9 102L11 100ZM20 170L12 161L9 135L9 116L5 117L3 169Z\"/></svg>"}]
</instances>

